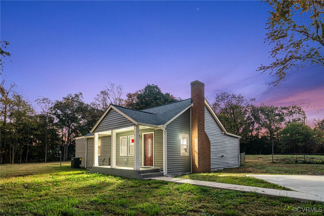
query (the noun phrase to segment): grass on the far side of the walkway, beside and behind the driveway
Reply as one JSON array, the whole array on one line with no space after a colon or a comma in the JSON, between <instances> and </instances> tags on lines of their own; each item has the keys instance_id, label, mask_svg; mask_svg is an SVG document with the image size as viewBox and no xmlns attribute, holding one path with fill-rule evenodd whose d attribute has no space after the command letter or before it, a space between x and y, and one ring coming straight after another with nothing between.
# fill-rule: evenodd
<instances>
[{"instance_id":1,"label":"grass on the far side of the walkway, beside and behind the driveway","mask_svg":"<svg viewBox=\"0 0 324 216\"><path fill-rule=\"evenodd\" d=\"M262 159L257 156L262 156ZM274 164L271 163L272 155L246 155L245 162L243 166L238 168L227 168L211 173L193 173L178 176L178 178L290 190L289 188L246 175L324 175L324 165L322 164Z\"/></svg>"}]
</instances>

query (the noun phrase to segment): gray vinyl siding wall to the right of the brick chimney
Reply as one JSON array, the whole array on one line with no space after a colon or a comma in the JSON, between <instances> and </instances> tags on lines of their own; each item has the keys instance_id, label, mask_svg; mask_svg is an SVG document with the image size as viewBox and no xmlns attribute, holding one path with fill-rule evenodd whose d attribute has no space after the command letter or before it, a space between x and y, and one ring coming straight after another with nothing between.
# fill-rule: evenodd
<instances>
[{"instance_id":1,"label":"gray vinyl siding wall to the right of the brick chimney","mask_svg":"<svg viewBox=\"0 0 324 216\"><path fill-rule=\"evenodd\" d=\"M222 134L222 129L205 106L205 132L210 140L211 169L239 166L238 138ZM221 157L225 155L225 157Z\"/></svg>"}]
</instances>

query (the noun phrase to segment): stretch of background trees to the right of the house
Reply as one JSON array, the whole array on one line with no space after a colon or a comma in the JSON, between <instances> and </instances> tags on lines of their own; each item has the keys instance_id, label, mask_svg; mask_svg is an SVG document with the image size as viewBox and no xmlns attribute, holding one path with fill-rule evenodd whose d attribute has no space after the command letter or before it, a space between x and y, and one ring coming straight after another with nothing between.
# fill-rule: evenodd
<instances>
[{"instance_id":1,"label":"stretch of background trees to the right of the house","mask_svg":"<svg viewBox=\"0 0 324 216\"><path fill-rule=\"evenodd\" d=\"M241 153L324 153L324 119L314 119L311 128L302 106L258 105L232 92L214 99L212 108L226 130L242 136Z\"/></svg>"}]
</instances>

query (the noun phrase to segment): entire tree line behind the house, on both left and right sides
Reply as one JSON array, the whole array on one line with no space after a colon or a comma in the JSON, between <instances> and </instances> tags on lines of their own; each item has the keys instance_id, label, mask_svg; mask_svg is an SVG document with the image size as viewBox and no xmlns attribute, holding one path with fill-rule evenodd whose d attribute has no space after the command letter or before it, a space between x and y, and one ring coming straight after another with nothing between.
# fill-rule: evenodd
<instances>
[{"instance_id":1,"label":"entire tree line behind the house, on both left and right sides","mask_svg":"<svg viewBox=\"0 0 324 216\"><path fill-rule=\"evenodd\" d=\"M145 109L181 100L154 84L123 98L123 87L109 83L91 103L79 92L55 101L38 97L33 106L16 88L1 82L1 163L55 161L59 151L68 160L75 137L87 134L110 104ZM221 92L211 107L228 132L242 136L240 152L324 153L324 119L311 128L301 106L257 105L255 98Z\"/></svg>"}]
</instances>

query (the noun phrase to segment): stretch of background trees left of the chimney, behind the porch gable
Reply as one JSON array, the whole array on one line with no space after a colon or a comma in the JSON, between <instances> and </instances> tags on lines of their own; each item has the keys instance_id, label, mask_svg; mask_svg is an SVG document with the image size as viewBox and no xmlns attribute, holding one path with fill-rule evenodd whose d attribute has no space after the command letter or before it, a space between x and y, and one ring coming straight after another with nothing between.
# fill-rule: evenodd
<instances>
[{"instance_id":1,"label":"stretch of background trees left of the chimney, behind the porch gable","mask_svg":"<svg viewBox=\"0 0 324 216\"><path fill-rule=\"evenodd\" d=\"M75 137L89 133L110 104L144 109L175 102L157 85L128 93L109 83L86 103L82 93L67 94L62 100L38 97L34 104L17 92L15 83L1 82L0 157L3 163L47 162L75 156Z\"/></svg>"}]
</instances>

